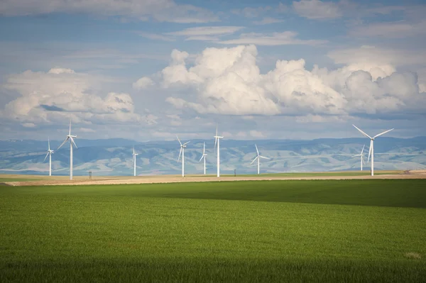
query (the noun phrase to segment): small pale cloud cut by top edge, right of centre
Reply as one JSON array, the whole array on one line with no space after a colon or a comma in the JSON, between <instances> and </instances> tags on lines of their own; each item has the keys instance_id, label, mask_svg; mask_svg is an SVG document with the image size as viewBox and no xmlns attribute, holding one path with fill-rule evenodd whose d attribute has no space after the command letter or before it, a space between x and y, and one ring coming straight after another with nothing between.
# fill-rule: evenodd
<instances>
[{"instance_id":1,"label":"small pale cloud cut by top edge, right of centre","mask_svg":"<svg viewBox=\"0 0 426 283\"><path fill-rule=\"evenodd\" d=\"M343 16L339 6L332 1L300 0L293 1L293 8L299 16L324 20Z\"/></svg>"}]
</instances>

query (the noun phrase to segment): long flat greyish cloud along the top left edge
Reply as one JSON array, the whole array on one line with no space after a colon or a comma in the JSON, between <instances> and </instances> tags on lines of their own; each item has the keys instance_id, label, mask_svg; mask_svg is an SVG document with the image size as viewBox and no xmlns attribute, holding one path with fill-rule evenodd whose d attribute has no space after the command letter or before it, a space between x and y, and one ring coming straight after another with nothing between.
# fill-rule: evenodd
<instances>
[{"instance_id":1,"label":"long flat greyish cloud along the top left edge","mask_svg":"<svg viewBox=\"0 0 426 283\"><path fill-rule=\"evenodd\" d=\"M173 0L3 0L0 15L26 16L44 13L94 13L105 16L130 16L141 21L175 23L207 23L218 21L210 11L192 5L176 4Z\"/></svg>"}]
</instances>

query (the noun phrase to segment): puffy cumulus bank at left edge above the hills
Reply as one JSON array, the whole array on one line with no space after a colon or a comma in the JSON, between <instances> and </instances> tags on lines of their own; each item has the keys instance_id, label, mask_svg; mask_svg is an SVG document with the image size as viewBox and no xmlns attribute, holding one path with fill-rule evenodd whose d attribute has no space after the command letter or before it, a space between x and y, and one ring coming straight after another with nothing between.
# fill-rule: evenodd
<instances>
[{"instance_id":1,"label":"puffy cumulus bank at left edge above the hills","mask_svg":"<svg viewBox=\"0 0 426 283\"><path fill-rule=\"evenodd\" d=\"M0 115L28 125L68 118L81 123L147 121L135 113L129 94L109 92L104 98L90 94L96 84L99 78L62 68L13 74L2 87L17 91L20 97L6 104Z\"/></svg>"}]
</instances>

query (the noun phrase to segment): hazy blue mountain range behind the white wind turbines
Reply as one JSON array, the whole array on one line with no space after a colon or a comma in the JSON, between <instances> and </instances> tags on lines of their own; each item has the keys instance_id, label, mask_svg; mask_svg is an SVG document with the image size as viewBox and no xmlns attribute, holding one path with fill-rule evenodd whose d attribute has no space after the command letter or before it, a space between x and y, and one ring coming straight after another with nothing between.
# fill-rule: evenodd
<instances>
[{"instance_id":1,"label":"hazy blue mountain range behind the white wind turbines","mask_svg":"<svg viewBox=\"0 0 426 283\"><path fill-rule=\"evenodd\" d=\"M192 140L185 149L185 174L202 174L199 162L203 142L206 143L207 174L216 172L214 140ZM53 150L62 140L51 140ZM138 175L180 174L178 162L179 143L151 141L138 143L126 139L76 140L74 150L74 174L132 175L132 146L139 154L136 160ZM276 172L324 172L359 170L359 157L352 157L364 150L368 159L366 138L316 139L316 140L221 140L222 174L255 174L255 143L261 155L271 158L261 160L261 173ZM48 141L0 140L0 173L48 174L48 159L43 162ZM426 169L426 137L381 137L374 144L374 168L376 170ZM52 155L53 175L67 175L70 167L70 149L65 145ZM369 170L370 163L364 165Z\"/></svg>"}]
</instances>

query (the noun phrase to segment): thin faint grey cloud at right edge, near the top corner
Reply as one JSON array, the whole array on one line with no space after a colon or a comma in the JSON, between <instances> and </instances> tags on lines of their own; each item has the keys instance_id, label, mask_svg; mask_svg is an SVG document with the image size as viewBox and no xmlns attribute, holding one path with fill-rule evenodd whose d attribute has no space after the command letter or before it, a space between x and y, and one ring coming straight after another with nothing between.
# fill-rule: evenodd
<instances>
[{"instance_id":1,"label":"thin faint grey cloud at right edge, near the top corner","mask_svg":"<svg viewBox=\"0 0 426 283\"><path fill-rule=\"evenodd\" d=\"M398 21L391 23L370 23L349 30L349 35L357 37L407 38L426 34L426 21L410 23Z\"/></svg>"}]
</instances>

